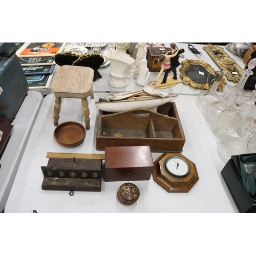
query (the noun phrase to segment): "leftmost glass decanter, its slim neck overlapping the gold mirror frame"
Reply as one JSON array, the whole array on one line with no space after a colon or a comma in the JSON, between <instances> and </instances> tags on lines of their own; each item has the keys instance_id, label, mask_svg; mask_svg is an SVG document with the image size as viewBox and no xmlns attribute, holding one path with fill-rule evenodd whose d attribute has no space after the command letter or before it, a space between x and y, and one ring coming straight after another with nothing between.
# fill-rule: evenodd
<instances>
[{"instance_id":1,"label":"leftmost glass decanter, its slim neck overlapping the gold mirror frame","mask_svg":"<svg viewBox=\"0 0 256 256\"><path fill-rule=\"evenodd\" d=\"M217 93L217 89L219 86L219 82L225 73L225 71L216 71L215 81L212 84L211 88L207 92L202 91L198 94L198 101L205 109L208 109L210 103L221 100L220 95Z\"/></svg>"}]
</instances>

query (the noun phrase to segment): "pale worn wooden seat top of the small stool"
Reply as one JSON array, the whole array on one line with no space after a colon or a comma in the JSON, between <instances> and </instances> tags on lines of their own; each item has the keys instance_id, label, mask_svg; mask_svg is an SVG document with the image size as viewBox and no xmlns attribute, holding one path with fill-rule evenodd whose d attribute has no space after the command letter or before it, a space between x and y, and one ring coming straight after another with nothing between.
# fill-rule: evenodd
<instances>
[{"instance_id":1,"label":"pale worn wooden seat top of the small stool","mask_svg":"<svg viewBox=\"0 0 256 256\"><path fill-rule=\"evenodd\" d=\"M91 95L94 71L88 67L61 66L52 84L55 97L87 98Z\"/></svg>"}]
</instances>

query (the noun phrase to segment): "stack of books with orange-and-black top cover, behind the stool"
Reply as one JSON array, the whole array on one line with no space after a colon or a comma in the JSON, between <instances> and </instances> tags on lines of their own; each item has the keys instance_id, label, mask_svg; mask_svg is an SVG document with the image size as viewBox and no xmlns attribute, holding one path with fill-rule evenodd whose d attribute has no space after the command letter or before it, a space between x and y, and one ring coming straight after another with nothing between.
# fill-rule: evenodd
<instances>
[{"instance_id":1,"label":"stack of books with orange-and-black top cover, behind the stool","mask_svg":"<svg viewBox=\"0 0 256 256\"><path fill-rule=\"evenodd\" d=\"M66 42L25 42L16 55L26 75L29 90L48 89L56 63L54 56L63 51Z\"/></svg>"}]
</instances>

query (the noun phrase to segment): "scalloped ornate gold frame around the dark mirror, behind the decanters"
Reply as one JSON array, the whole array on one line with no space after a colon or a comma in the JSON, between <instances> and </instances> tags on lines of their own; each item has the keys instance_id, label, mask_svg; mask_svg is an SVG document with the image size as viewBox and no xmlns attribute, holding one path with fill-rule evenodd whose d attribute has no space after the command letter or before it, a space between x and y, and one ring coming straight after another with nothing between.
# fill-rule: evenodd
<instances>
[{"instance_id":1,"label":"scalloped ornate gold frame around the dark mirror, behind the decanters","mask_svg":"<svg viewBox=\"0 0 256 256\"><path fill-rule=\"evenodd\" d=\"M205 84L199 84L194 81L192 81L189 77L185 75L185 72L187 71L189 64L193 65L201 65L203 66L209 73L215 73L216 70L214 70L208 63L204 62L203 60L199 59L185 59L181 62L181 68L180 68L180 77L183 80L183 83L189 84L193 88L197 89L209 89L208 83ZM209 81L210 82L210 81ZM226 79L224 77L221 78L221 81L219 82L218 90L222 90L223 86L227 84Z\"/></svg>"}]
</instances>

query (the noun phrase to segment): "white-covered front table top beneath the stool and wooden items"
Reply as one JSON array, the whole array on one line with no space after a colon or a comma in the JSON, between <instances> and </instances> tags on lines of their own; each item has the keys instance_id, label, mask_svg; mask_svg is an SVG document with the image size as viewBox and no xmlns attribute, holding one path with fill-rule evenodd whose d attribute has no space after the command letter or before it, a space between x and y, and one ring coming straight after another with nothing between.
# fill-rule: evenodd
<instances>
[{"instance_id":1,"label":"white-covered front table top beneath the stool and wooden items","mask_svg":"<svg viewBox=\"0 0 256 256\"><path fill-rule=\"evenodd\" d=\"M200 49L199 49L200 50ZM182 154L193 161L198 170L199 181L188 193L167 193L153 180L132 181L140 189L139 200L131 206L119 203L117 190L124 182L105 182L101 192L42 190L41 166L46 166L48 152L96 153L98 109L94 102L107 94L95 93L89 100L91 129L78 146L66 148L53 137L54 96L44 99L31 132L23 159L19 165L5 212L238 212L221 170L225 165L218 155L219 139L213 134L198 108L196 96L179 95L174 101L183 126L186 142ZM72 108L70 107L72 105ZM76 121L84 124L79 99L65 98L61 103L59 123ZM152 153L156 160L162 153Z\"/></svg>"}]
</instances>

